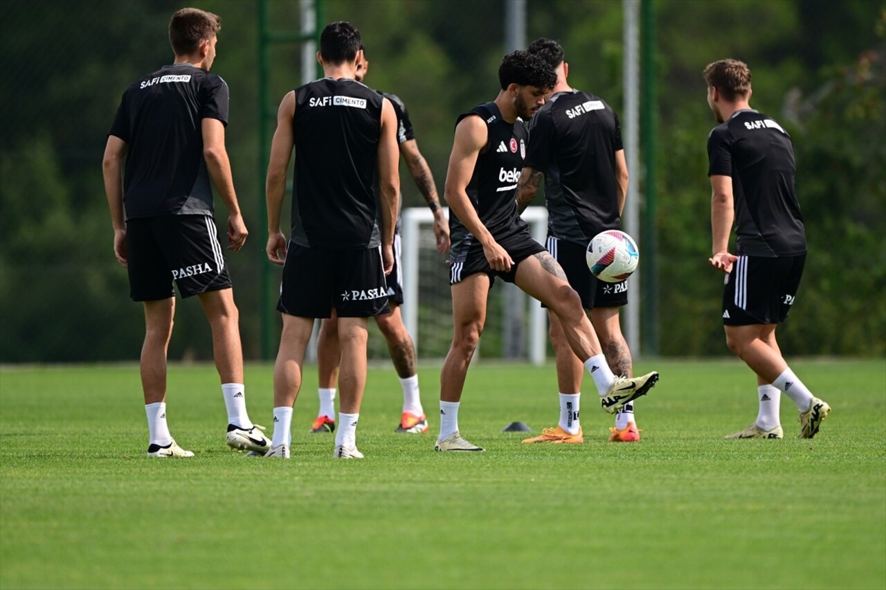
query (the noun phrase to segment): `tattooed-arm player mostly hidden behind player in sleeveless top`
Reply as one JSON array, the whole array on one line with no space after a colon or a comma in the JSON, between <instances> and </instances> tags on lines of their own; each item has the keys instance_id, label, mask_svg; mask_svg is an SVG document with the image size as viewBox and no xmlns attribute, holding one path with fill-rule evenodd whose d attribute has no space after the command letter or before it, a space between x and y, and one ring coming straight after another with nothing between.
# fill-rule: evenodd
<instances>
[{"instance_id":1,"label":"tattooed-arm player mostly hidden behind player in sleeveless top","mask_svg":"<svg viewBox=\"0 0 886 590\"><path fill-rule=\"evenodd\" d=\"M357 64L355 74L357 82L363 82L364 76L369 71L369 59L366 58L365 48L363 58ZM379 92L391 101L394 113L397 113L397 143L400 145L400 155L406 160L409 175L416 182L418 190L424 196L424 200L434 213L434 237L437 241L437 249L440 253L449 250L449 226L443 217L443 209L440 207L437 197L437 187L431 168L418 150L416 135L412 129L412 121L406 105L396 97L386 92ZM387 276L388 305L391 313L377 315L378 329L387 340L388 352L391 353L394 369L400 377L400 388L403 390L403 408L400 415L400 423L397 432L420 434L428 431L428 420L422 408L422 398L418 389L418 375L416 374L416 347L412 337L409 336L406 326L403 325L403 316L400 314L400 306L403 305L403 287L400 276L400 221L393 238L393 270ZM312 432L335 431L335 394L336 381L338 378L338 361L341 358L341 350L338 346L338 324L335 314L329 319L324 319L320 325L320 333L317 335L317 379L319 389L317 395L320 398L320 410L313 424Z\"/></svg>"}]
</instances>

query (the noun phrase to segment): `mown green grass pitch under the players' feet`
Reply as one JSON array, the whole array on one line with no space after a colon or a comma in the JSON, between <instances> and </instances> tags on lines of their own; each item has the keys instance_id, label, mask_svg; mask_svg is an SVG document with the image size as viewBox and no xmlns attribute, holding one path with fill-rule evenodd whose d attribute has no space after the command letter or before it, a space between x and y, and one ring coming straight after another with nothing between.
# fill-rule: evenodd
<instances>
[{"instance_id":1,"label":"mown green grass pitch under the players' feet","mask_svg":"<svg viewBox=\"0 0 886 590\"><path fill-rule=\"evenodd\" d=\"M400 386L370 369L358 444L309 435L307 368L288 462L224 444L211 366L171 368L171 431L190 460L148 460L135 366L0 369L2 588L884 588L886 363L795 361L834 411L800 440L725 441L756 415L739 361L656 361L642 440L522 445L512 421L556 423L553 367L478 363L462 433L483 454L433 452L439 369L419 375L426 435L395 435ZM247 368L269 423L271 368ZM268 429L268 432L270 429Z\"/></svg>"}]
</instances>

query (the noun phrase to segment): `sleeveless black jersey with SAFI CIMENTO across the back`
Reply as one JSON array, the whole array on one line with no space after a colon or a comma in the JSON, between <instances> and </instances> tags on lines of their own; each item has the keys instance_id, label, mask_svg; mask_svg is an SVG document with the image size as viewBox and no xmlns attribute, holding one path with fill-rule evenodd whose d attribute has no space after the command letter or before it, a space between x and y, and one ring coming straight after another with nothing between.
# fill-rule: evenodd
<instances>
[{"instance_id":1,"label":"sleeveless black jersey with SAFI CIMENTO across the back","mask_svg":"<svg viewBox=\"0 0 886 590\"><path fill-rule=\"evenodd\" d=\"M292 240L349 250L381 243L375 183L384 97L350 78L295 90Z\"/></svg>"}]
</instances>

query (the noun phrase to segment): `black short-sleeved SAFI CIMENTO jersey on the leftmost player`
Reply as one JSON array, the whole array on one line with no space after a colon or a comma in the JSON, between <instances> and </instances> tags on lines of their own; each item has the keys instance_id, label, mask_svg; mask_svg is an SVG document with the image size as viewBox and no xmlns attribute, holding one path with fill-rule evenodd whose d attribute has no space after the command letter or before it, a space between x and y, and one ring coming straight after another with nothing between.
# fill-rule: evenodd
<instances>
[{"instance_id":1,"label":"black short-sleeved SAFI CIMENTO jersey on the leftmost player","mask_svg":"<svg viewBox=\"0 0 886 590\"><path fill-rule=\"evenodd\" d=\"M228 124L228 84L191 66L163 66L130 86L108 135L127 143L127 219L213 213L201 120Z\"/></svg>"}]
</instances>

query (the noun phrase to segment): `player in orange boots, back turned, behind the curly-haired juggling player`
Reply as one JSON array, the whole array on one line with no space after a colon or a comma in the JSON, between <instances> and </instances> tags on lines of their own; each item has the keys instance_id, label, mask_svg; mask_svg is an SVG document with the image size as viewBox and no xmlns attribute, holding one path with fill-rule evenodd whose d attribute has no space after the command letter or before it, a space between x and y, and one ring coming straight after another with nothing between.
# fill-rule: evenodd
<instances>
[{"instance_id":1,"label":"player in orange boots, back turned, behind the curly-haired juggling player","mask_svg":"<svg viewBox=\"0 0 886 590\"><path fill-rule=\"evenodd\" d=\"M627 164L618 115L601 97L573 89L566 81L569 64L560 43L540 38L529 52L548 62L557 75L547 103L532 116L529 147L517 186L523 211L545 177L548 206L548 252L563 268L581 307L600 338L615 375L633 375L631 351L621 333L618 307L627 305L627 281L598 280L585 260L587 244L604 229L621 229L627 195ZM584 367L572 353L556 314L548 312L560 388L560 421L525 443L580 443L579 402ZM625 404L610 428L610 441L640 440L633 402Z\"/></svg>"}]
</instances>

